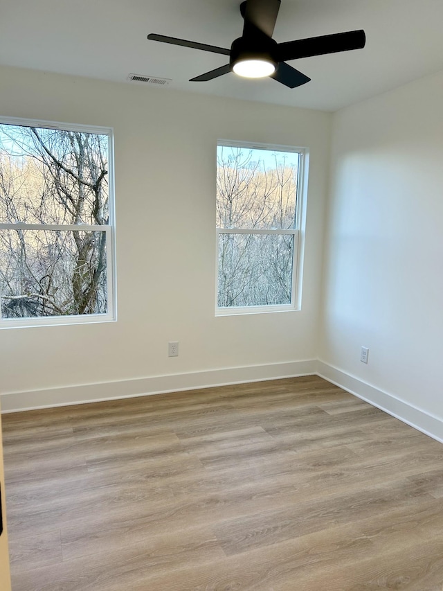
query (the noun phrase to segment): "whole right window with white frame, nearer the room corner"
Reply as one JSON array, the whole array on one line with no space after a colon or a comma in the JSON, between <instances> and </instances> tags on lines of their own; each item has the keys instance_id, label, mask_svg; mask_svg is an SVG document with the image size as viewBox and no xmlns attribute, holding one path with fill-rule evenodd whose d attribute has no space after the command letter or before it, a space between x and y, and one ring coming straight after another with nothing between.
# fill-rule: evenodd
<instances>
[{"instance_id":1,"label":"whole right window with white frame, nearer the room corner","mask_svg":"<svg viewBox=\"0 0 443 591\"><path fill-rule=\"evenodd\" d=\"M219 142L217 315L296 309L303 155Z\"/></svg>"}]
</instances>

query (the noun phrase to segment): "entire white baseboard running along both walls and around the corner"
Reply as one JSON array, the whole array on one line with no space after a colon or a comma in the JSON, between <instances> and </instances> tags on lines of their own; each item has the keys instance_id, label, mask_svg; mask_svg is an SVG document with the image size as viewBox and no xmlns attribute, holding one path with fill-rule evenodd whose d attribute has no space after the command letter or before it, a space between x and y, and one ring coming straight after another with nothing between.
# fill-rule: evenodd
<instances>
[{"instance_id":1,"label":"entire white baseboard running along both walls and around the corner","mask_svg":"<svg viewBox=\"0 0 443 591\"><path fill-rule=\"evenodd\" d=\"M319 360L230 367L170 376L11 392L1 395L1 411L7 413L34 410L313 374L325 378L443 443L443 421L440 418Z\"/></svg>"}]
</instances>

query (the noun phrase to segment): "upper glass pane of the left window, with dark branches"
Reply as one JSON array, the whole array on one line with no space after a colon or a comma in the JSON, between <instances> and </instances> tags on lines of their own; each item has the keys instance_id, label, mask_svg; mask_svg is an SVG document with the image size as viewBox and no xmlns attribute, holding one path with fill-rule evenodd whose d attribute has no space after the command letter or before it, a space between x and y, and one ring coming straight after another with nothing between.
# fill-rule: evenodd
<instances>
[{"instance_id":1,"label":"upper glass pane of the left window, with dark branches","mask_svg":"<svg viewBox=\"0 0 443 591\"><path fill-rule=\"evenodd\" d=\"M108 224L105 134L0 125L0 222Z\"/></svg>"}]
</instances>

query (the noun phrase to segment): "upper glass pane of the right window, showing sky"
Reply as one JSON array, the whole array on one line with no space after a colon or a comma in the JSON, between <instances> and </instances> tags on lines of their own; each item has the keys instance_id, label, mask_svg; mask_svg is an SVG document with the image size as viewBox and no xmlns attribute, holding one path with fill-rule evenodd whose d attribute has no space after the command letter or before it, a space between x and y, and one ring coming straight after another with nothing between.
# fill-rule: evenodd
<instances>
[{"instance_id":1,"label":"upper glass pane of the right window, showing sky","mask_svg":"<svg viewBox=\"0 0 443 591\"><path fill-rule=\"evenodd\" d=\"M298 152L217 147L217 227L295 227Z\"/></svg>"}]
</instances>

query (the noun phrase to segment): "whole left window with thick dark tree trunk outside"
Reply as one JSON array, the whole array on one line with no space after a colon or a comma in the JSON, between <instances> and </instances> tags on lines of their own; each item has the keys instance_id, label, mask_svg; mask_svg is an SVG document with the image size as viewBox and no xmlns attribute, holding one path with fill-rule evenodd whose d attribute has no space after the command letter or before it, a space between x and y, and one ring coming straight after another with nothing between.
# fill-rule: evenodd
<instances>
[{"instance_id":1,"label":"whole left window with thick dark tree trunk outside","mask_svg":"<svg viewBox=\"0 0 443 591\"><path fill-rule=\"evenodd\" d=\"M114 319L112 133L0 120L0 327Z\"/></svg>"}]
</instances>

